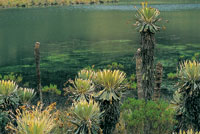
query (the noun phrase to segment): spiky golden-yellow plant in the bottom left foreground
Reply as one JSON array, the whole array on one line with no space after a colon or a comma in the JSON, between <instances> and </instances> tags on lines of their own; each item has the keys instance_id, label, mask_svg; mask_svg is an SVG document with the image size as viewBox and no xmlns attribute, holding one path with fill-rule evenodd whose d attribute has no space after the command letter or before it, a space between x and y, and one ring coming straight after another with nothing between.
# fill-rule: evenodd
<instances>
[{"instance_id":1,"label":"spiky golden-yellow plant in the bottom left foreground","mask_svg":"<svg viewBox=\"0 0 200 134\"><path fill-rule=\"evenodd\" d=\"M43 105L38 103L31 109L17 110L17 127L10 124L8 128L18 134L49 134L56 126L55 103L43 110Z\"/></svg>"}]
</instances>

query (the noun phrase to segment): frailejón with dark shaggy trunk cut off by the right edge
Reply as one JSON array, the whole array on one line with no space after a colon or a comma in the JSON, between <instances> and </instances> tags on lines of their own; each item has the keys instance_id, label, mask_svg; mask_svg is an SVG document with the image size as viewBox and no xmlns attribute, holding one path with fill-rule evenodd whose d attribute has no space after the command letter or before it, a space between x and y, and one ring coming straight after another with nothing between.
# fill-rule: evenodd
<instances>
[{"instance_id":1,"label":"frailej\u00f3n with dark shaggy trunk cut off by the right edge","mask_svg":"<svg viewBox=\"0 0 200 134\"><path fill-rule=\"evenodd\" d=\"M177 119L178 128L200 130L200 63L185 61L178 70L178 92L181 96Z\"/></svg>"}]
</instances>

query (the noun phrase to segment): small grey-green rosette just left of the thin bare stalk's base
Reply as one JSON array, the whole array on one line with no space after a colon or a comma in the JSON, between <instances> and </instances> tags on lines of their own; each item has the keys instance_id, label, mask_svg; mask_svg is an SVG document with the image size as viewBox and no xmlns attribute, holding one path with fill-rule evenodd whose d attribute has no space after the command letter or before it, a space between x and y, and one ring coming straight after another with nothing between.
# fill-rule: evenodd
<instances>
[{"instance_id":1,"label":"small grey-green rosette just left of the thin bare stalk's base","mask_svg":"<svg viewBox=\"0 0 200 134\"><path fill-rule=\"evenodd\" d=\"M21 103L29 104L33 97L36 95L36 92L31 88L19 88L17 90L17 94L19 95Z\"/></svg>"}]
</instances>

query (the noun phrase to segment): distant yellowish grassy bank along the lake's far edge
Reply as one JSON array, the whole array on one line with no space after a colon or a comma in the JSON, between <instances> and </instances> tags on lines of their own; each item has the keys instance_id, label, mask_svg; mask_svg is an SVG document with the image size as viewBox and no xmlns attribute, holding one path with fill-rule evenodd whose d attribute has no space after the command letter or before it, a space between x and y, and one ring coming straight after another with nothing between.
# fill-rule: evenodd
<instances>
[{"instance_id":1,"label":"distant yellowish grassy bank along the lake's far edge","mask_svg":"<svg viewBox=\"0 0 200 134\"><path fill-rule=\"evenodd\" d=\"M149 4L195 4L200 0L0 0L0 8L26 8L66 5L93 5L93 4L117 4L135 5L147 1Z\"/></svg>"}]
</instances>

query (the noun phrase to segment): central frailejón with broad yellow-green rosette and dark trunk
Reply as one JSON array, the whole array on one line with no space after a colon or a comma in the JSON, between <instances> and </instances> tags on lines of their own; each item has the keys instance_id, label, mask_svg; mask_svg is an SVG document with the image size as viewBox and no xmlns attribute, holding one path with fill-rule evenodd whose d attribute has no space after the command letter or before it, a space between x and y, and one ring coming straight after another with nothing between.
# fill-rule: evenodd
<instances>
[{"instance_id":1,"label":"central frailej\u00f3n with broad yellow-green rosette and dark trunk","mask_svg":"<svg viewBox=\"0 0 200 134\"><path fill-rule=\"evenodd\" d=\"M103 70L96 73L95 81L103 90L97 93L102 116L101 128L104 134L111 134L120 117L120 91L124 88L126 74L119 70Z\"/></svg>"}]
</instances>

